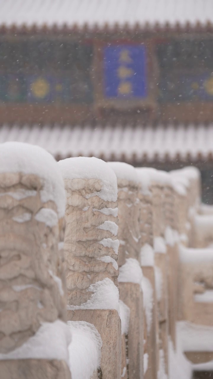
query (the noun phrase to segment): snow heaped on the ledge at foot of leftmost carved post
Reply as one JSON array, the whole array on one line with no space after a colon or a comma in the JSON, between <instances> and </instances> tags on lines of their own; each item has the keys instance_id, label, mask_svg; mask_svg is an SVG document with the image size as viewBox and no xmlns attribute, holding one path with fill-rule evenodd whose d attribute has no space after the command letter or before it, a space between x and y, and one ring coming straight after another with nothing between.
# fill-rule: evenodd
<instances>
[{"instance_id":1,"label":"snow heaped on the ledge at foot of leftmost carved post","mask_svg":"<svg viewBox=\"0 0 213 379\"><path fill-rule=\"evenodd\" d=\"M42 323L33 337L22 346L7 353L0 354L0 360L8 359L57 359L69 364L68 346L71 334L65 323Z\"/></svg>"}]
</instances>

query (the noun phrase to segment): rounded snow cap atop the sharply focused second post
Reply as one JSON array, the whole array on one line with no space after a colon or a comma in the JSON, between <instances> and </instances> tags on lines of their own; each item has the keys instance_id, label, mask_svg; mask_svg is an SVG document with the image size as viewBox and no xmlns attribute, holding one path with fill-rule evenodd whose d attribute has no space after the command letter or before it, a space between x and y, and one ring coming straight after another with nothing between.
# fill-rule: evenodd
<instances>
[{"instance_id":1,"label":"rounded snow cap atop the sharply focused second post","mask_svg":"<svg viewBox=\"0 0 213 379\"><path fill-rule=\"evenodd\" d=\"M117 178L109 164L98 158L67 158L58 162L64 179L99 179L101 191L95 192L105 201L117 201Z\"/></svg>"}]
</instances>

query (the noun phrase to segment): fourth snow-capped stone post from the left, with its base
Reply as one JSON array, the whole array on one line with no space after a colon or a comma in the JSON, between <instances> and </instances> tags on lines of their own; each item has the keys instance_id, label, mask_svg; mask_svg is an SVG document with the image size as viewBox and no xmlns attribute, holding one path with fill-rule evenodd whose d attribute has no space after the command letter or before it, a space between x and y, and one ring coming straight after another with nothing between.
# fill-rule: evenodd
<instances>
[{"instance_id":1,"label":"fourth snow-capped stone post from the left, with its base","mask_svg":"<svg viewBox=\"0 0 213 379\"><path fill-rule=\"evenodd\" d=\"M157 379L158 320L153 251L153 204L151 174L153 169L136 169L140 182L140 263L143 270L142 290L144 305L144 378Z\"/></svg>"}]
</instances>

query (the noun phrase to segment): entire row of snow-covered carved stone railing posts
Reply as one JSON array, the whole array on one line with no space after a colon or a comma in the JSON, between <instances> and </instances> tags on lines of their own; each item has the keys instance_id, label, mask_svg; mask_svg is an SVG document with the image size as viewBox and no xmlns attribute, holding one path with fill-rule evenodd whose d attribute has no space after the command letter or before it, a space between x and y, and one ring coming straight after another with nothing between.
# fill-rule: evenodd
<instances>
[{"instance_id":1,"label":"entire row of snow-covered carved stone railing posts","mask_svg":"<svg viewBox=\"0 0 213 379\"><path fill-rule=\"evenodd\" d=\"M212 215L195 168L56 163L39 147L0 145L0 377L205 371Z\"/></svg>"}]
</instances>

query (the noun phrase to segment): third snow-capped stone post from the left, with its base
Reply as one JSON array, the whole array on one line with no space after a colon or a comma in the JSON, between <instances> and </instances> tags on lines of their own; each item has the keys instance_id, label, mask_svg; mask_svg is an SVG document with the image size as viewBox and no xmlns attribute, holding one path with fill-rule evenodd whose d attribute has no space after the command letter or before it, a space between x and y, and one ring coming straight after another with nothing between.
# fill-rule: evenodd
<instances>
[{"instance_id":1,"label":"third snow-capped stone post from the left, with its base","mask_svg":"<svg viewBox=\"0 0 213 379\"><path fill-rule=\"evenodd\" d=\"M130 164L123 162L108 162L108 164L117 176L118 186L120 299L130 309L127 335L128 378L143 378L143 294L141 291L142 270L139 264L139 183L136 170ZM122 365L122 370L124 369L125 367Z\"/></svg>"}]
</instances>

